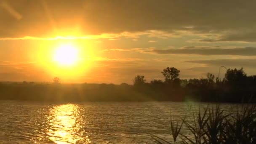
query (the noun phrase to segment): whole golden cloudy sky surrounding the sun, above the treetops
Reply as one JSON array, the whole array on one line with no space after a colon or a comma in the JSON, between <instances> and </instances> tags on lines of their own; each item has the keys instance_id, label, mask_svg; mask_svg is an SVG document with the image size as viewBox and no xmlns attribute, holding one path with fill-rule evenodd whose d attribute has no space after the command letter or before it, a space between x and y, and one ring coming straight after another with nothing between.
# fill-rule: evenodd
<instances>
[{"instance_id":1,"label":"whole golden cloudy sky surrounding the sun, above the treetops","mask_svg":"<svg viewBox=\"0 0 256 144\"><path fill-rule=\"evenodd\" d=\"M0 0L0 81L132 83L218 75L219 67L256 74L256 1ZM71 45L77 61L55 61ZM66 53L67 54L67 53ZM63 56L63 59L69 57ZM225 69L221 68L223 78Z\"/></svg>"}]
</instances>

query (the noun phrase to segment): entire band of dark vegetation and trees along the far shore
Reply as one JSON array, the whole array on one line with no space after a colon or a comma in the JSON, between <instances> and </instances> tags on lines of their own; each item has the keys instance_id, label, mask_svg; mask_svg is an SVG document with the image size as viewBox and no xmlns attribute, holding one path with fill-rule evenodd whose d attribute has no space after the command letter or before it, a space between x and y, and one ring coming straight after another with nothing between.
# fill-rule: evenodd
<instances>
[{"instance_id":1,"label":"entire band of dark vegetation and trees along the far shore","mask_svg":"<svg viewBox=\"0 0 256 144\"><path fill-rule=\"evenodd\" d=\"M165 78L149 83L137 75L133 85L0 83L0 99L35 101L218 101L240 102L256 95L256 75L247 76L241 69L227 69L220 80L208 73L206 78L180 79L179 70L167 67L161 72ZM255 102L255 99L252 99Z\"/></svg>"}]
</instances>

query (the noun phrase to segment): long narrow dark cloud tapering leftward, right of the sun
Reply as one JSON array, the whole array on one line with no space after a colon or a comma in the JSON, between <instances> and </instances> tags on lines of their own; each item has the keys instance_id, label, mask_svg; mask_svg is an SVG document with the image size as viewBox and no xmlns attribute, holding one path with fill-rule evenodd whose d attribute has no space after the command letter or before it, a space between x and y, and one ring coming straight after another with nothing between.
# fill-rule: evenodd
<instances>
[{"instance_id":1,"label":"long narrow dark cloud tapering leftward, right of the sun","mask_svg":"<svg viewBox=\"0 0 256 144\"><path fill-rule=\"evenodd\" d=\"M256 48L182 48L182 49L154 49L159 54L197 54L197 55L237 55L256 56Z\"/></svg>"}]
</instances>

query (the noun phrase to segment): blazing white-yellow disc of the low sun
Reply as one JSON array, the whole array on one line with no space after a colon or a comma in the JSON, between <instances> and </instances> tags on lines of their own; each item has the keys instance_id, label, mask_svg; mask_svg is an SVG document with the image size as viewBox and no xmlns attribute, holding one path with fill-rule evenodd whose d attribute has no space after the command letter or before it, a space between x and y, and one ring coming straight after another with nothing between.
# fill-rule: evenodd
<instances>
[{"instance_id":1,"label":"blazing white-yellow disc of the low sun","mask_svg":"<svg viewBox=\"0 0 256 144\"><path fill-rule=\"evenodd\" d=\"M61 45L54 53L54 60L61 66L75 65L78 60L78 50L73 45Z\"/></svg>"}]
</instances>

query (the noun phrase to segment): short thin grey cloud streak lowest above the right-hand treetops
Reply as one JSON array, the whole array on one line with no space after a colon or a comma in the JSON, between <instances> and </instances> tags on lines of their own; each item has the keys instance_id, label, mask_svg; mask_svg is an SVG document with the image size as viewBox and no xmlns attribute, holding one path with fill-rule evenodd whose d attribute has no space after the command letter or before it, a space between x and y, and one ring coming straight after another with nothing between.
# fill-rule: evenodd
<instances>
[{"instance_id":1,"label":"short thin grey cloud streak lowest above the right-hand treetops","mask_svg":"<svg viewBox=\"0 0 256 144\"><path fill-rule=\"evenodd\" d=\"M215 59L215 60L197 60L197 61L185 61L188 63L208 64L214 66L226 66L226 67L251 67L255 68L256 59Z\"/></svg>"}]
</instances>

